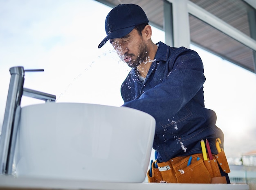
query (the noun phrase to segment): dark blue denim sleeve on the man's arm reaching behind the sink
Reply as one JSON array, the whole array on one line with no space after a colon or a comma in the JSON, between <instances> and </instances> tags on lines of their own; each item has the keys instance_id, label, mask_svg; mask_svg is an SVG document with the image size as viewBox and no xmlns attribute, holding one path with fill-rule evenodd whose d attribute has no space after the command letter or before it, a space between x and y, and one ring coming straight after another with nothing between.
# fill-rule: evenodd
<instances>
[{"instance_id":1,"label":"dark blue denim sleeve on the man's arm reaching behind the sink","mask_svg":"<svg viewBox=\"0 0 256 190\"><path fill-rule=\"evenodd\" d=\"M205 81L202 60L188 49L176 54L166 61L168 73L161 83L123 106L146 112L159 122L175 115L195 97Z\"/></svg>"}]
</instances>

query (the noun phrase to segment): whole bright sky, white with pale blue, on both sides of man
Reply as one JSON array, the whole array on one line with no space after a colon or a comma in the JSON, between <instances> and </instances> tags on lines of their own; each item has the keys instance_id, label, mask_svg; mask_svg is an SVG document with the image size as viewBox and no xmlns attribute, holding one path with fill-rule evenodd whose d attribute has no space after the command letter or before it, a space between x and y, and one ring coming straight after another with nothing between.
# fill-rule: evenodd
<instances>
[{"instance_id":1,"label":"whole bright sky, white with pale blue, on both sides of man","mask_svg":"<svg viewBox=\"0 0 256 190\"><path fill-rule=\"evenodd\" d=\"M0 1L0 126L13 66L43 68L25 73L24 87L56 95L56 102L123 104L120 86L130 68L109 43L98 49L110 10L94 0ZM153 28L152 40L164 42L163 31ZM217 114L227 157L255 150L255 74L190 48L203 60L205 107ZM38 103L43 102L23 96L21 106Z\"/></svg>"}]
</instances>

